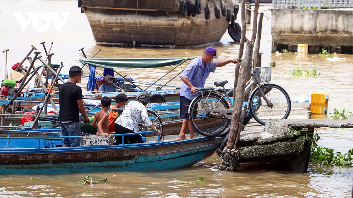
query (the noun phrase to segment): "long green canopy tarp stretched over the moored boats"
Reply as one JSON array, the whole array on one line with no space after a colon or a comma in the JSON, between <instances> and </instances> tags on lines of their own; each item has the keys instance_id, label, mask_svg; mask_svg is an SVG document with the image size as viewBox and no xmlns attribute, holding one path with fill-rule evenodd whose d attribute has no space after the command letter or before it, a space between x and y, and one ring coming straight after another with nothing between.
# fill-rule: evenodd
<instances>
[{"instance_id":1,"label":"long green canopy tarp stretched over the moored boats","mask_svg":"<svg viewBox=\"0 0 353 198\"><path fill-rule=\"evenodd\" d=\"M82 64L90 64L100 68L159 68L177 65L184 60L194 57L179 58L84 58L80 59Z\"/></svg>"}]
</instances>

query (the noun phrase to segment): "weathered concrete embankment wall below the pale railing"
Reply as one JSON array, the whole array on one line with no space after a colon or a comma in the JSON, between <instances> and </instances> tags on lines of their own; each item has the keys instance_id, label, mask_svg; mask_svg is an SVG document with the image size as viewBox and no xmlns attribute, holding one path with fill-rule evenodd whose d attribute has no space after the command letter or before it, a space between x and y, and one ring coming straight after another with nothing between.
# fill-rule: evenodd
<instances>
[{"instance_id":1,"label":"weathered concrete embankment wall below the pale railing","mask_svg":"<svg viewBox=\"0 0 353 198\"><path fill-rule=\"evenodd\" d=\"M308 44L309 53L353 54L353 9L272 9L272 51L297 52Z\"/></svg>"}]
</instances>

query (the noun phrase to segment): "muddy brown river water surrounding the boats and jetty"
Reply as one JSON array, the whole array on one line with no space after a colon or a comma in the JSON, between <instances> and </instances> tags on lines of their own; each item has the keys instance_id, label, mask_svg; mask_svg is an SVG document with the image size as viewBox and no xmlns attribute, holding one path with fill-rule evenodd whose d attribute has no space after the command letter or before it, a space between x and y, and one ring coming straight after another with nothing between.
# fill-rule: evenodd
<instances>
[{"instance_id":1,"label":"muddy brown river water surrounding the boats and jetty","mask_svg":"<svg viewBox=\"0 0 353 198\"><path fill-rule=\"evenodd\" d=\"M270 6L261 7L270 16ZM47 31L39 32L38 27L49 23L50 20L39 20L28 24L22 30L13 12L20 12L28 20L27 12L70 13L60 32L51 23ZM238 19L239 20L239 19ZM240 21L238 21L239 23ZM35 29L36 28L36 29ZM328 112L334 108L352 111L353 97L353 56L340 55L345 60L329 62L325 56L307 55L296 58L295 53L282 53L276 56L271 53L271 19L264 18L261 39L262 66L276 62L272 69L272 82L285 88L292 101L301 95L310 96L310 91L327 91L329 93ZM42 29L43 30L43 29ZM247 37L251 37L251 27L247 27ZM52 62L64 63L64 74L72 65L81 65L82 58L78 50L85 47L88 56L102 49L96 57L106 58L158 58L199 56L203 47L185 47L178 49L149 49L149 48L120 48L102 47L95 45L86 15L80 13L77 1L66 0L0 0L0 49L10 49L8 52L9 67L20 62L35 45L44 54L40 45L46 41L47 48L54 42ZM234 43L227 33L220 42L209 44L219 49L220 59L238 56L239 45ZM32 54L33 56L33 54ZM28 63L24 64L28 66ZM35 64L40 65L39 63ZM184 65L185 66L185 65ZM227 79L228 87L234 82L234 64L228 64L211 73L207 79L207 86L214 81ZM289 72L295 68L305 66L307 69L316 68L321 76L303 77L292 76ZM118 70L123 75L145 81L155 81L172 67L157 69L124 69ZM172 72L174 76L180 71ZM4 79L4 55L0 55L0 79ZM163 82L166 82L164 80ZM179 85L176 79L171 84ZM317 116L331 119L328 116ZM353 147L352 129L318 129L321 139L319 146L335 149L346 153ZM162 151L161 151L162 152ZM351 197L352 167L324 166L311 164L306 174L288 171L274 171L257 167L240 172L217 171L218 156L200 162L192 167L154 172L78 172L53 175L0 175L0 197ZM94 179L108 177L109 183L82 185L86 175ZM176 179L193 181L203 176L202 184L180 185ZM33 179L30 180L29 178Z\"/></svg>"}]
</instances>

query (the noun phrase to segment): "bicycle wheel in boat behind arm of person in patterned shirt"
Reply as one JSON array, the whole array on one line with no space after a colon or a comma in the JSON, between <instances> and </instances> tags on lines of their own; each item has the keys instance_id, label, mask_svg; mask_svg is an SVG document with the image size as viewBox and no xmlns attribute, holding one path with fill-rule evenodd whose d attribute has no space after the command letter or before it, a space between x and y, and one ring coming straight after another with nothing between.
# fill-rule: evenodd
<instances>
[{"instance_id":1,"label":"bicycle wheel in boat behind arm of person in patterned shirt","mask_svg":"<svg viewBox=\"0 0 353 198\"><path fill-rule=\"evenodd\" d=\"M147 109L148 117L150 118L152 124L156 127L156 129L161 130L160 140L163 137L163 122L161 116L157 114L155 111ZM149 128L143 121L138 123L138 128L140 132L152 131L152 128ZM148 133L145 134L146 142L156 142L158 141L157 133Z\"/></svg>"}]
</instances>

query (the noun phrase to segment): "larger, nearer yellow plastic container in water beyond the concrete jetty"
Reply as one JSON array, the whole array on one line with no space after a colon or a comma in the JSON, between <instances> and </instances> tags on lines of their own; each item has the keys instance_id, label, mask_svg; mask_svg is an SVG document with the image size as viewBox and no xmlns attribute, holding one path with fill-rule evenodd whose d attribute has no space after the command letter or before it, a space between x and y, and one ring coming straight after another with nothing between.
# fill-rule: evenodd
<instances>
[{"instance_id":1,"label":"larger, nearer yellow plastic container in water beyond the concrete jetty","mask_svg":"<svg viewBox=\"0 0 353 198\"><path fill-rule=\"evenodd\" d=\"M327 114L327 106L329 101L328 92L311 91L311 106L312 114Z\"/></svg>"}]
</instances>

